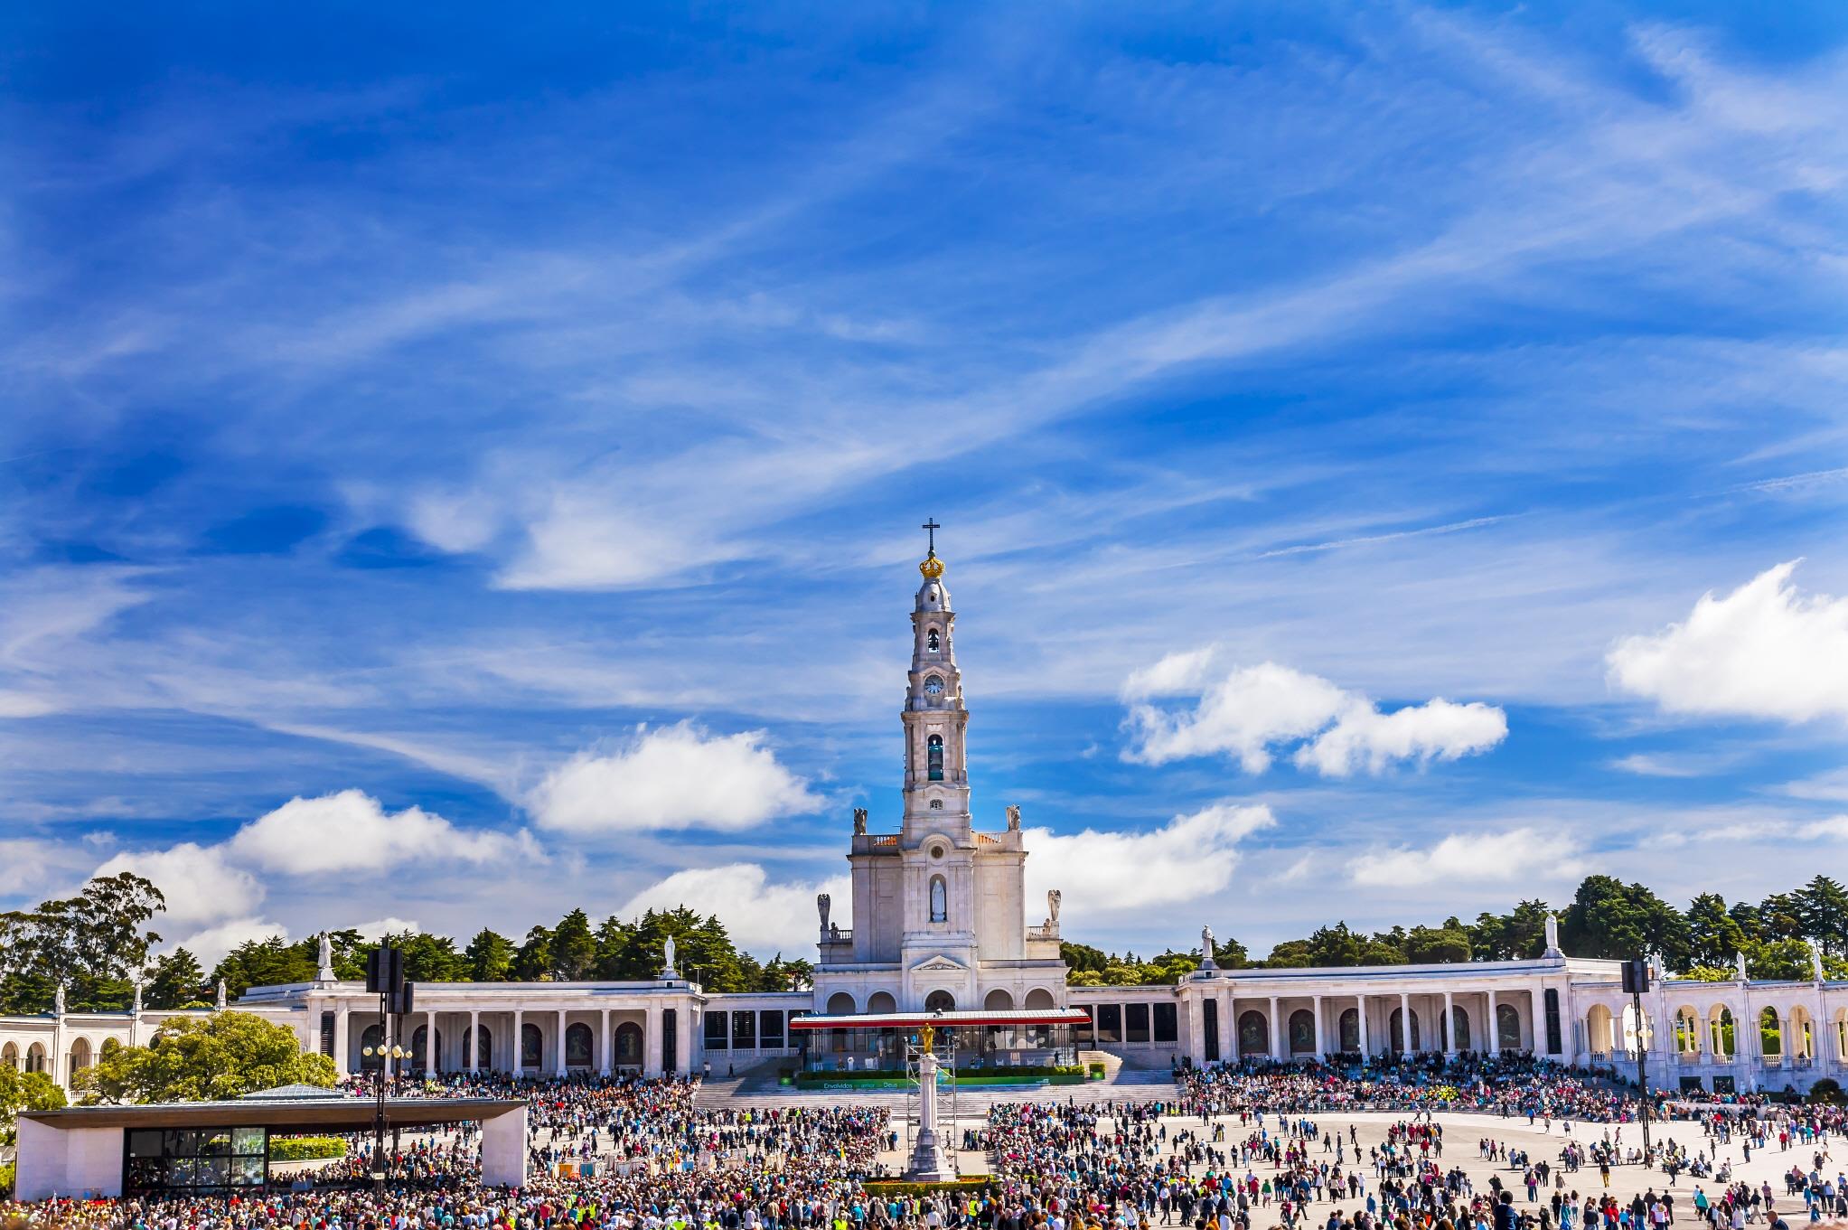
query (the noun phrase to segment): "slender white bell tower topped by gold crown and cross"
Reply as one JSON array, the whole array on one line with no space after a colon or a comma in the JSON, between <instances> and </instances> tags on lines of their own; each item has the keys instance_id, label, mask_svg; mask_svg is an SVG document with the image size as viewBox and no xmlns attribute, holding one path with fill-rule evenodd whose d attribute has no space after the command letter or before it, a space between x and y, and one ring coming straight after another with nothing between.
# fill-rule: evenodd
<instances>
[{"instance_id":1,"label":"slender white bell tower topped by gold crown and cross","mask_svg":"<svg viewBox=\"0 0 1848 1230\"><path fill-rule=\"evenodd\" d=\"M922 526L930 547L918 573L911 608L911 672L906 685L906 783L904 840L944 833L955 844L970 840L968 814L968 709L963 707L963 672L955 665L955 611L942 584L937 558L935 517Z\"/></svg>"}]
</instances>

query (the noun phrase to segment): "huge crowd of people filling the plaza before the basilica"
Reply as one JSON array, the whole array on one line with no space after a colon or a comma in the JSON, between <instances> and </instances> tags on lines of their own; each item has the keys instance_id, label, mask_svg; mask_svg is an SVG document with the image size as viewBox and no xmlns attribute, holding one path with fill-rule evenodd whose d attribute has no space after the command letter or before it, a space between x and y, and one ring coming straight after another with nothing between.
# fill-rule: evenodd
<instances>
[{"instance_id":1,"label":"huge crowd of people filling the plaza before the basilica","mask_svg":"<svg viewBox=\"0 0 1848 1230\"><path fill-rule=\"evenodd\" d=\"M349 1091L370 1095L368 1079ZM900 1127L878 1106L702 1104L699 1084L639 1079L445 1077L399 1084L412 1097L529 1103L529 1182L480 1184L477 1125L370 1136L246 1195L55 1200L0 1208L30 1226L91 1230L1663 1230L1682 1213L1711 1230L1778 1230L1769 1182L1733 1176L1733 1152L1794 1152L1783 1210L1848 1215L1831 1145L1839 1108L1765 1099L1654 1101L1650 1114L1700 1125L1693 1145L1641 1152L1634 1091L1526 1058L1412 1060L1353 1067L1240 1064L1177 1071L1159 1101L1000 1103L961 1143L985 1154L967 1191L881 1188ZM1362 1141L1355 1112L1395 1115ZM1523 1119L1525 1143L1473 1134L1477 1176L1447 1160L1434 1112ZM1539 1132L1536 1138L1534 1132ZM1685 1136L1685 1132L1682 1134ZM1545 1140L1545 1149L1536 1145ZM1556 1143L1554 1143L1556 1141ZM1464 1145L1467 1154L1469 1147ZM1489 1165L1486 1182L1482 1164ZM1611 1171L1647 1164L1648 1189L1611 1195ZM375 1169L390 1175L384 1189ZM1660 1175L1660 1178L1658 1178ZM1678 1188L1689 1178L1693 1191ZM1702 1184L1713 1184L1708 1191ZM1660 1191L1658 1191L1660 1188ZM1680 1202L1678 1202L1678 1191Z\"/></svg>"}]
</instances>

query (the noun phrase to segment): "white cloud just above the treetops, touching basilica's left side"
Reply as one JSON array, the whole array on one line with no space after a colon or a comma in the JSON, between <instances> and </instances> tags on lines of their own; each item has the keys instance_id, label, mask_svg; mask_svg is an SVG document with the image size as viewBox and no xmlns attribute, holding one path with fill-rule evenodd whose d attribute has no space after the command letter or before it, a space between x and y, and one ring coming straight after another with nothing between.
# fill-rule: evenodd
<instances>
[{"instance_id":1,"label":"white cloud just above the treetops, touching basilica's left side","mask_svg":"<svg viewBox=\"0 0 1848 1230\"><path fill-rule=\"evenodd\" d=\"M772 885L756 862L689 868L649 885L617 910L634 918L643 910L671 910L686 905L699 914L717 914L739 947L784 957L813 957L821 918L815 894L833 898L835 922L852 920L852 883L833 875L819 885Z\"/></svg>"}]
</instances>

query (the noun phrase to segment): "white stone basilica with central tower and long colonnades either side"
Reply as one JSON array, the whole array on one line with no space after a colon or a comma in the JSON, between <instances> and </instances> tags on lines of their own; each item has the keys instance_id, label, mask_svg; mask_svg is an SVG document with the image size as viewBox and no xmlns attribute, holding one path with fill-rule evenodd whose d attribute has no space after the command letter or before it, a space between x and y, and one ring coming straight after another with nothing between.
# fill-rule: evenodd
<instances>
[{"instance_id":1,"label":"white stone basilica with central tower and long colonnades either side","mask_svg":"<svg viewBox=\"0 0 1848 1230\"><path fill-rule=\"evenodd\" d=\"M935 530L937 526L928 526ZM1619 962L1563 953L1554 925L1528 960L1336 970L1222 970L1210 947L1173 986L1068 986L1057 892L1029 918L1029 850L1016 809L978 829L968 790L968 709L955 609L935 539L918 565L896 833L854 813L852 901L817 901L809 990L711 994L663 955L639 983L427 983L392 1040L379 1001L334 977L255 986L235 1008L290 1027L340 1071L410 1053L412 1071L525 1075L745 1071L791 1060L887 1071L924 1023L950 1031L970 1064L1044 1071L1081 1053L1127 1067L1218 1062L1353 1062L1404 1053L1530 1053L1623 1066L1637 1051L1667 1090L1807 1090L1848 1079L1848 983L1696 983L1658 977L1637 1014ZM1135 875L1124 868L1124 875ZM1039 912L1031 909L1031 912ZM1177 933L1183 931L1177 927ZM1177 942L1181 935L1175 936ZM224 1008L220 997L220 1010ZM0 1016L0 1062L61 1086L116 1040L146 1043L176 1012Z\"/></svg>"}]
</instances>

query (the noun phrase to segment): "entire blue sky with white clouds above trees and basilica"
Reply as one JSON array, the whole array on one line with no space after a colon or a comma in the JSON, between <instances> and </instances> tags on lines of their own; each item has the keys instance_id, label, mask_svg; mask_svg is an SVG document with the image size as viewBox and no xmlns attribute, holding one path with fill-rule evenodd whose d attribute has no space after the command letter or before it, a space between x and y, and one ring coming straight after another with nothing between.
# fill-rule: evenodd
<instances>
[{"instance_id":1,"label":"entire blue sky with white clouds above trees and basilica","mask_svg":"<svg viewBox=\"0 0 1848 1230\"><path fill-rule=\"evenodd\" d=\"M802 951L926 515L1072 938L1848 866L1839 6L0 22L6 903Z\"/></svg>"}]
</instances>

